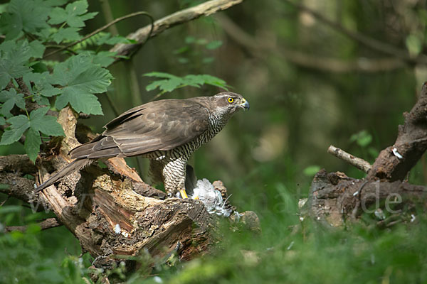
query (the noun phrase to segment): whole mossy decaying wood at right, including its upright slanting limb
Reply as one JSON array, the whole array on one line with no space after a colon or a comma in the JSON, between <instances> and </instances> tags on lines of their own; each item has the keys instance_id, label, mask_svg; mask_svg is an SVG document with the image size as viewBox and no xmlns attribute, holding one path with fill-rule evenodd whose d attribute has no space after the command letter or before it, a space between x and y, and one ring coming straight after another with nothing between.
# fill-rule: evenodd
<instances>
[{"instance_id":1,"label":"whole mossy decaying wood at right, including its upright slanting limb","mask_svg":"<svg viewBox=\"0 0 427 284\"><path fill-rule=\"evenodd\" d=\"M368 173L366 178L357 180L344 173L320 170L312 181L305 212L333 226L342 226L346 220L354 221L363 212L375 214L382 224L381 212L395 211L391 204L406 209L413 208L417 203L425 207L427 187L411 185L404 179L427 149L426 83L418 102L409 113L404 113L404 117L405 122L398 128L396 142L381 151L371 169L365 171ZM335 152L332 151L333 154ZM350 160L355 159L351 157Z\"/></svg>"}]
</instances>

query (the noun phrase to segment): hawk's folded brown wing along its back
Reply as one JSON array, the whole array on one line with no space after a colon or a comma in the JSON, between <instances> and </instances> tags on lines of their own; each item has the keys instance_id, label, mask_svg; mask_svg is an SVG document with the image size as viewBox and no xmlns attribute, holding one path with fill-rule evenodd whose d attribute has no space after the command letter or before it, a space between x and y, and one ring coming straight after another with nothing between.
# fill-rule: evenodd
<instances>
[{"instance_id":1,"label":"hawk's folded brown wing along its back","mask_svg":"<svg viewBox=\"0 0 427 284\"><path fill-rule=\"evenodd\" d=\"M209 127L209 111L194 100L165 99L135 107L105 125L72 158L109 158L168 151L193 140Z\"/></svg>"}]
</instances>

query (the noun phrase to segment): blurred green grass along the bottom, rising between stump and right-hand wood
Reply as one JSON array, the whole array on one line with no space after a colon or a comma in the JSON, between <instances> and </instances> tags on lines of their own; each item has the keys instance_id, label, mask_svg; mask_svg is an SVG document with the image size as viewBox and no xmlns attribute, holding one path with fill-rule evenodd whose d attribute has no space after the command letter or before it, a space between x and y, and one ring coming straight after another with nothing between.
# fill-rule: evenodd
<instances>
[{"instance_id":1,"label":"blurred green grass along the bottom, rising between stump and right-hand wood","mask_svg":"<svg viewBox=\"0 0 427 284\"><path fill-rule=\"evenodd\" d=\"M292 173L283 179L275 170L255 169L246 180L228 184L244 189L234 190L233 200L240 211L257 212L261 234L232 232L224 224L222 240L209 255L158 263L151 274L128 275L127 283L427 283L427 219L421 212L414 222L389 229L370 226L373 215L339 229L308 218L301 222L297 200L307 195L310 179L297 182ZM13 206L0 208L1 224L37 219ZM63 227L40 231L31 225L24 233L1 234L0 283L85 283L92 258L79 255L78 241Z\"/></svg>"}]
</instances>

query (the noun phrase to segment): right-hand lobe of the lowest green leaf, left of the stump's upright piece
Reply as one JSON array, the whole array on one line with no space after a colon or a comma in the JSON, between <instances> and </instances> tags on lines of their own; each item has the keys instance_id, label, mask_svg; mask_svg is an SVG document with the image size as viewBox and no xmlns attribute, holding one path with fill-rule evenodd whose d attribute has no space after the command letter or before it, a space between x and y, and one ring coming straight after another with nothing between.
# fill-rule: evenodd
<instances>
[{"instance_id":1,"label":"right-hand lobe of the lowest green leaf, left of the stump's upright piece","mask_svg":"<svg viewBox=\"0 0 427 284\"><path fill-rule=\"evenodd\" d=\"M56 121L54 116L46 116L49 107L41 107L31 111L30 114L30 126L35 131L40 131L48 136L63 136L64 131L62 126Z\"/></svg>"}]
</instances>

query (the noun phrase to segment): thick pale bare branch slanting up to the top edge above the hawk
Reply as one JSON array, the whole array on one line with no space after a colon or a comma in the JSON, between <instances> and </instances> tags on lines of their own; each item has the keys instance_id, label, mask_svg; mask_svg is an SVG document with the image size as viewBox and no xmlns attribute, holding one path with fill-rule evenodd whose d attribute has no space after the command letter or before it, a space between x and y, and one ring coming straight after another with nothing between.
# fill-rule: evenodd
<instances>
[{"instance_id":1,"label":"thick pale bare branch slanting up to the top edge above the hawk","mask_svg":"<svg viewBox=\"0 0 427 284\"><path fill-rule=\"evenodd\" d=\"M147 38L154 37L167 28L172 28L180 23L186 23L201 16L210 16L217 11L226 10L241 2L243 2L243 0L211 0L188 9L177 11L176 13L172 13L169 16L155 21L152 33L149 33L151 26L144 26L144 28L139 28L134 33L127 35L126 38L137 40L137 44L119 43L111 48L110 51L117 53L119 56L130 56L132 53L135 53ZM117 61L120 59L121 58L117 58Z\"/></svg>"}]
</instances>

